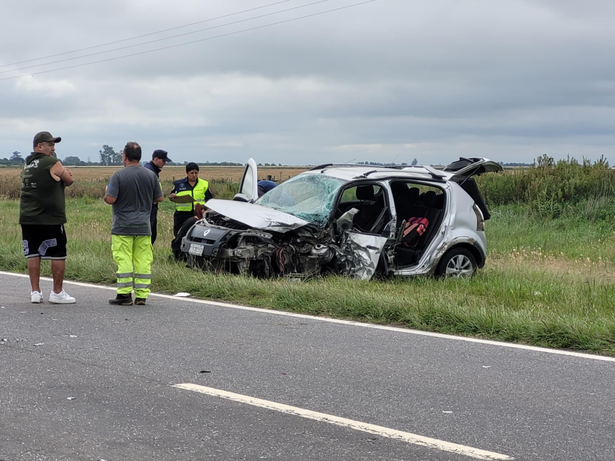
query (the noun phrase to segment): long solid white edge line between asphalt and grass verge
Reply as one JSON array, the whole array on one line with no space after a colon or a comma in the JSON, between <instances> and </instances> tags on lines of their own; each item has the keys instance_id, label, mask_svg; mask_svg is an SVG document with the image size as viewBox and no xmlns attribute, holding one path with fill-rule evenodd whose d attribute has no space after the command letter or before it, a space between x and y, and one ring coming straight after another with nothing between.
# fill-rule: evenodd
<instances>
[{"instance_id":1,"label":"long solid white edge line between asphalt and grass verge","mask_svg":"<svg viewBox=\"0 0 615 461\"><path fill-rule=\"evenodd\" d=\"M15 274L14 272L4 272L2 270L0 270L0 275L12 275L14 277L28 278L28 275L26 274ZM47 282L53 281L53 279L49 277L41 277L41 280L47 280ZM70 282L68 280L65 280L64 283L69 283L70 285L85 286L87 288L101 288L103 290L113 290L113 291L116 290L114 286L95 285L93 283ZM454 336L451 334L433 333L432 331L421 331L417 329L400 328L397 326L375 325L373 323L363 323L360 321L341 320L339 318L317 317L315 315L306 315L304 313L285 312L284 310L274 310L274 309L263 309L261 307L250 307L247 305L230 304L228 302L220 302L220 301L206 301L205 299L194 299L191 297L177 297L177 296L171 296L170 294L151 293L149 294L149 296L164 297L166 299L173 299L175 301L197 302L199 304L216 305L219 307L231 307L232 309L252 310L254 312L264 312L264 313L268 313L271 315L286 315L288 317L308 318L311 320L327 321L329 323L341 323L342 325L362 326L363 328L384 329L387 331L396 331L397 333L418 334L419 336L431 336L431 337L438 337L442 339L452 339L454 341L478 342L480 344L490 344L490 345L496 345L496 346L501 346L501 347L510 347L512 349L533 350L534 352L545 352L545 353L556 354L556 355L568 355L570 357L587 358L590 360L603 360L603 361L615 362L615 357L606 357L605 355L594 355L594 354L589 354L589 353L584 353L584 352L573 352L571 350L548 349L546 347L531 346L531 345L526 345L526 344L515 344L513 342L492 341L490 339L478 339L478 338L466 337L466 336ZM79 302L79 299L77 299L77 303L78 302Z\"/></svg>"}]
</instances>

